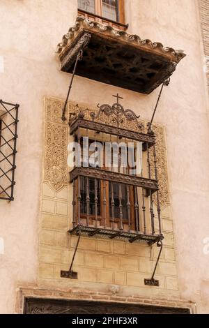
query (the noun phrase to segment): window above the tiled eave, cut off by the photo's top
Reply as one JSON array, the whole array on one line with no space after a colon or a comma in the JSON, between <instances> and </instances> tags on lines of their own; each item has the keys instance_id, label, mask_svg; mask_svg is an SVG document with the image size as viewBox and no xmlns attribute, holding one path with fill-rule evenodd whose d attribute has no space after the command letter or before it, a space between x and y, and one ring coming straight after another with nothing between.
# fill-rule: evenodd
<instances>
[{"instance_id":1,"label":"window above the tiled eave, cut off by the photo's top","mask_svg":"<svg viewBox=\"0 0 209 328\"><path fill-rule=\"evenodd\" d=\"M124 0L78 0L78 10L91 19L125 24Z\"/></svg>"}]
</instances>

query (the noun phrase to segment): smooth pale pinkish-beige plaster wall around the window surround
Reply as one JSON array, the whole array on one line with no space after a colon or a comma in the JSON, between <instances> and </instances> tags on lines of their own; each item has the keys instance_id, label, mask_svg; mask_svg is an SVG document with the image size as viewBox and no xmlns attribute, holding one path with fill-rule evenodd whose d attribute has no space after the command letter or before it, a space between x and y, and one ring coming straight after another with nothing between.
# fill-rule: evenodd
<instances>
[{"instance_id":1,"label":"smooth pale pinkish-beige plaster wall around the window surround","mask_svg":"<svg viewBox=\"0 0 209 328\"><path fill-rule=\"evenodd\" d=\"M203 239L209 237L209 129L199 9L194 0L125 3L130 33L187 53L164 91L155 120L166 126L167 132L180 297L196 302L197 311L206 313L209 255L203 254ZM75 0L0 3L1 98L21 105L15 202L0 203L0 237L5 244L4 254L0 254L1 313L15 311L17 284L35 284L38 277L43 98L65 98L70 76L59 71L54 51L63 33L74 24L76 11ZM71 99L89 105L111 103L116 91L125 98L125 107L143 119L150 118L158 90L144 96L75 77Z\"/></svg>"}]
</instances>

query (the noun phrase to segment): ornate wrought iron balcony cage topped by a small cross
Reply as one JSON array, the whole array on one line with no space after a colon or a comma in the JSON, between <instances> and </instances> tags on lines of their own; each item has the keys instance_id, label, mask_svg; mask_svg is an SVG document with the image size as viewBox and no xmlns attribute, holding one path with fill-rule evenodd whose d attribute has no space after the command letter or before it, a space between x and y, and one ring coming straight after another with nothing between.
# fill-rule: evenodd
<instances>
[{"instance_id":1,"label":"ornate wrought iron balcony cage topped by a small cross","mask_svg":"<svg viewBox=\"0 0 209 328\"><path fill-rule=\"evenodd\" d=\"M167 85L167 82L162 84L162 87ZM159 103L162 88L157 104ZM157 158L155 151L155 134L152 131L152 122L157 110L157 104L153 112L152 120L148 124L148 131L144 124L139 122L139 117L132 110L125 110L119 103L121 97L116 96L117 101L113 105L98 105L98 112L89 112L88 110L74 112L70 114L70 134L74 139L82 145L82 136L95 136L96 140L103 140L103 135L114 137L116 140L128 140L141 142L143 144L144 163L146 170L142 170L141 175L130 175L128 171L114 172L111 168L102 169L100 167L79 167L70 172L70 182L73 189L72 200L72 229L69 234L79 236L75 253L70 264L69 271L61 271L63 278L77 278L77 273L72 271L72 265L77 252L79 239L81 235L88 237L102 237L109 239L121 239L130 241L145 241L149 245L157 243L162 251L162 228L160 218L160 200L158 195L158 180L157 180ZM105 119L106 118L106 119ZM107 121L107 124L101 123ZM124 128L124 122L134 124L134 131ZM108 124L109 122L109 124ZM102 138L102 139L101 139ZM152 163L151 163L152 162ZM90 179L95 181L94 202L95 210L93 216L90 215ZM85 180L86 193L84 196L84 186L82 181ZM100 197L98 197L98 183L100 183ZM113 192L113 184L118 184L118 219L115 218L116 199ZM122 188L123 187L123 188ZM124 189L125 188L125 189ZM130 188L134 193L130 193ZM122 189L127 190L127 217L123 218L124 197L122 197ZM112 191L112 192L111 192ZM132 197L132 199L130 198ZM154 213L153 202L155 197L157 214ZM84 199L85 198L85 199ZM98 213L98 200L100 199L101 211ZM92 200L91 200L92 202ZM84 204L85 203L85 204ZM131 207L132 204L132 207ZM82 208L85 207L85 216L82 215ZM100 215L99 215L100 214ZM155 220L157 215L157 220ZM157 221L157 224L156 224ZM160 258L160 254L159 254ZM157 259L157 263L159 261ZM155 266L155 270L157 267ZM150 279L145 279L146 285L159 285L159 281L155 281L153 276Z\"/></svg>"}]
</instances>

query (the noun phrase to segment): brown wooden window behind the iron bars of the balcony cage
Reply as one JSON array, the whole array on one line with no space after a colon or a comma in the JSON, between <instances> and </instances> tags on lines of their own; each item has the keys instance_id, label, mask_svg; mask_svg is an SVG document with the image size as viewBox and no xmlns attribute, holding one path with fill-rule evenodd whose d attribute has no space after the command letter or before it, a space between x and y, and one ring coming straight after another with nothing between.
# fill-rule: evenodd
<instances>
[{"instance_id":1,"label":"brown wooden window behind the iron bars of the balcony cage","mask_svg":"<svg viewBox=\"0 0 209 328\"><path fill-rule=\"evenodd\" d=\"M77 139L76 139L77 140ZM84 166L93 166L98 167L102 170L111 170L114 171L113 164L118 163L120 165L120 155L121 149L118 149L118 156L114 156L111 153L111 167L103 166L105 163L105 147L103 148L104 154L102 156L102 161L100 165L93 165L94 161L98 161L98 158L93 156L94 150L98 151L98 147L96 144L96 140L88 139L88 158L87 153L84 155L84 140L80 140L81 149L81 158L82 163L81 165ZM102 142L100 142L102 144ZM86 144L85 144L86 147ZM130 150L130 149L129 149ZM133 151L133 149L131 149ZM127 151L128 152L128 151ZM85 157L83 157L85 156ZM134 161L134 152L131 152L130 156L132 161ZM103 163L103 165L102 165ZM88 165L87 165L88 164ZM121 173L129 174L130 168L129 167L121 167L122 172L118 167L116 167L116 172L120 171ZM105 199L106 199L106 209L104 210L104 189L105 189ZM123 216L123 223L128 224L128 211L127 207L130 203L130 215L131 215L131 225L134 228L134 221L135 221L135 214L134 214L134 199L136 196L136 191L134 190L133 186L127 186L126 184L118 184L115 182L104 181L100 179L93 179L87 177L80 177L80 214L82 218L87 217L88 211L88 218L89 222L93 224L95 214L96 214L96 206L97 206L97 216L98 220L104 217L104 211L106 212L107 217L107 225L111 225L111 222L118 223L121 217L121 210ZM96 200L96 202L95 202ZM114 207L112 206L114 204ZM112 209L114 208L114 214L112 213ZM114 216L113 216L114 215Z\"/></svg>"}]
</instances>

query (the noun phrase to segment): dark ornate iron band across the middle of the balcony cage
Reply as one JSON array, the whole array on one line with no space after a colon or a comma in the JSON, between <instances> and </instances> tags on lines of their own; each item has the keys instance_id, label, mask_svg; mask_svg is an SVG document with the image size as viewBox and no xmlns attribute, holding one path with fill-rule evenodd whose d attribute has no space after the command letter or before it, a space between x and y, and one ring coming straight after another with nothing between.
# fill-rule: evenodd
<instances>
[{"instance_id":1,"label":"dark ornate iron band across the middle of the balcony cage","mask_svg":"<svg viewBox=\"0 0 209 328\"><path fill-rule=\"evenodd\" d=\"M70 181L77 179L77 177L89 177L96 178L106 181L113 181L117 183L129 184L130 186L143 187L145 189L151 190L153 192L158 190L158 181L154 179L146 179L137 177L134 175L110 172L106 170L100 170L94 167L75 167L70 172Z\"/></svg>"}]
</instances>

